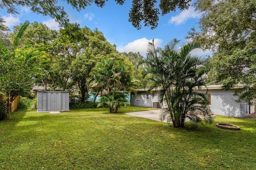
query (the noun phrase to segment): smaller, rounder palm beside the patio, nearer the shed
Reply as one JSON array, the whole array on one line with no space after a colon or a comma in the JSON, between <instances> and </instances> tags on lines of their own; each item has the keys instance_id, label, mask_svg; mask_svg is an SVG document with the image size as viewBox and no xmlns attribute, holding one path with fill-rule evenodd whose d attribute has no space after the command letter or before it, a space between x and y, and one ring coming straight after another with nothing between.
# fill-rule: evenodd
<instances>
[{"instance_id":1,"label":"smaller, rounder palm beside the patio, nearer the shed","mask_svg":"<svg viewBox=\"0 0 256 170\"><path fill-rule=\"evenodd\" d=\"M122 105L129 104L125 93L133 85L130 66L111 58L102 59L94 67L92 74L96 81L92 87L100 87L106 93L98 107L108 106L110 113L115 113Z\"/></svg>"}]
</instances>

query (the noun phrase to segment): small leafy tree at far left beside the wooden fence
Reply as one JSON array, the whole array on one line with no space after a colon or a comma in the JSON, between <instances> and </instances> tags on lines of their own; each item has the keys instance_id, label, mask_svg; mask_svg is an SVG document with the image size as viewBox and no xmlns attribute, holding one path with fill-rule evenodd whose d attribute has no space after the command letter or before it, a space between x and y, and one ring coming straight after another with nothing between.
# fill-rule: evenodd
<instances>
[{"instance_id":1,"label":"small leafy tree at far left beside the wooden fence","mask_svg":"<svg viewBox=\"0 0 256 170\"><path fill-rule=\"evenodd\" d=\"M30 92L35 71L33 63L36 56L41 54L30 47L17 49L18 42L28 25L28 21L22 25L10 51L0 41L0 93L6 95L7 119L11 119L11 105L14 99L18 95Z\"/></svg>"}]
</instances>

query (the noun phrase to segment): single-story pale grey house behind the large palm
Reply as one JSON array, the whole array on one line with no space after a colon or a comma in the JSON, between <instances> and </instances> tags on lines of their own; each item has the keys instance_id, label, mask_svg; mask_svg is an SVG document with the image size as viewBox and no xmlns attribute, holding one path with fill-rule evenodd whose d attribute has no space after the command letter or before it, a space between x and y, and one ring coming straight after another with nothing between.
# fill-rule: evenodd
<instances>
[{"instance_id":1,"label":"single-story pale grey house behind the large palm","mask_svg":"<svg viewBox=\"0 0 256 170\"><path fill-rule=\"evenodd\" d=\"M239 87L236 87L239 88ZM224 91L221 85L210 85L195 89L196 91L203 91L208 93L208 100L210 102L211 112L215 115L223 115L230 117L245 117L249 114L255 113L255 105L249 106L247 103L236 103L238 98L234 96L233 90ZM132 106L164 108L158 100L158 93L160 88L154 89L152 93L147 93L148 89L137 89L137 93L131 93L130 104Z\"/></svg>"}]
</instances>

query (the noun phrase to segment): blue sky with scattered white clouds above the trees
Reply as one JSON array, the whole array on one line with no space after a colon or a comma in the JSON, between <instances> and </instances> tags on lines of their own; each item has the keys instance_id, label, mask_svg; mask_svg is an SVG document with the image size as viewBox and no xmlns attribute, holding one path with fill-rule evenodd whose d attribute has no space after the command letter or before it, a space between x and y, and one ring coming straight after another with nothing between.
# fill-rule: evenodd
<instances>
[{"instance_id":1,"label":"blue sky with scattered white clouds above the trees","mask_svg":"<svg viewBox=\"0 0 256 170\"><path fill-rule=\"evenodd\" d=\"M87 26L91 30L98 28L108 42L116 44L120 52L140 52L145 56L148 42L154 42L157 46L164 47L170 40L177 38L181 43L185 43L187 32L194 26L198 27L198 21L201 16L198 12L194 11L193 7L189 10L171 12L165 16L159 15L158 27L151 30L150 27L144 27L142 23L141 30L137 30L132 26L129 19L129 11L132 7L132 2L126 0L121 6L116 4L114 0L106 2L103 8L92 6L77 12L67 4L60 4L64 6L64 10L68 13L70 22L80 24L80 27ZM25 20L32 22L42 22L50 29L58 30L58 23L49 16L42 16L34 14L27 7L17 7L20 14L13 15L7 14L6 9L1 9L0 16L5 19L6 26L12 29L13 26L23 23ZM198 55L202 51L193 51ZM206 53L209 54L209 53Z\"/></svg>"}]
</instances>

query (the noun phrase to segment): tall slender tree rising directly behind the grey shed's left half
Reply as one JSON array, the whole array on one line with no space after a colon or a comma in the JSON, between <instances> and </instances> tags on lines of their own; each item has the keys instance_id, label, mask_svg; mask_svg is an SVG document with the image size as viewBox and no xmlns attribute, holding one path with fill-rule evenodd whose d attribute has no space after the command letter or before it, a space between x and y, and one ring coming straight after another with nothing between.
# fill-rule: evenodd
<instances>
[{"instance_id":1,"label":"tall slender tree rising directly behind the grey shed's left half","mask_svg":"<svg viewBox=\"0 0 256 170\"><path fill-rule=\"evenodd\" d=\"M14 32L10 35L11 37L16 36L20 26L14 27ZM54 72L54 68L52 67L54 58L52 54L52 42L57 37L57 34L56 30L50 30L45 24L34 22L28 26L19 43L19 47L31 44L33 47L44 52L44 55L41 55L35 61L37 63L36 67L38 67L38 74L35 75L35 83L42 85L44 90L48 89L48 84L54 82L52 77L52 72Z\"/></svg>"}]
</instances>

